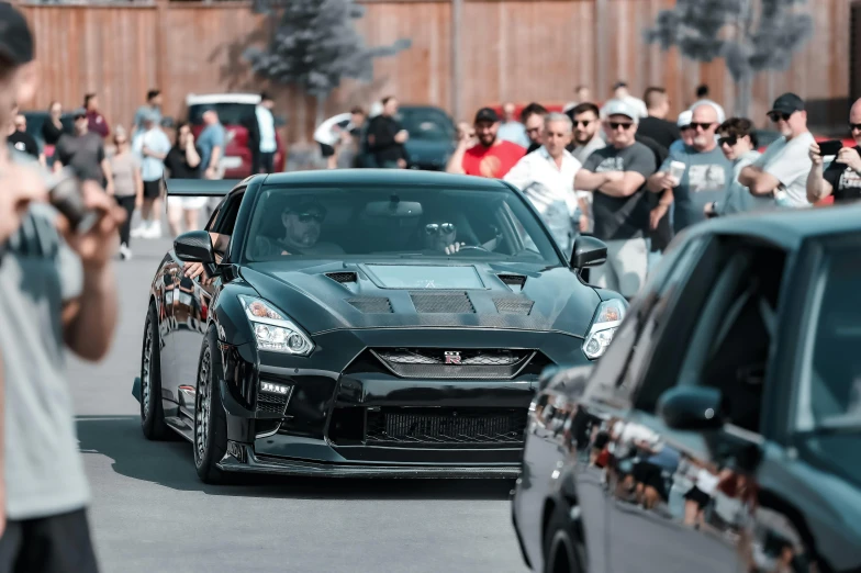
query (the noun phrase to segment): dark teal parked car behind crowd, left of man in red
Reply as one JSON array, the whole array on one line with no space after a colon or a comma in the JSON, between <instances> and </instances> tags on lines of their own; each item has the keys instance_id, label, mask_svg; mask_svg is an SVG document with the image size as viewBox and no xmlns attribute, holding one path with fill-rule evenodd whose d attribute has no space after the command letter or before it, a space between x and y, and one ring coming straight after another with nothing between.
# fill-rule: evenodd
<instances>
[{"instance_id":1,"label":"dark teal parked car behind crowd, left of man in red","mask_svg":"<svg viewBox=\"0 0 861 573\"><path fill-rule=\"evenodd\" d=\"M401 105L398 120L410 134L404 144L409 169L444 171L457 146L451 117L433 105Z\"/></svg>"}]
</instances>

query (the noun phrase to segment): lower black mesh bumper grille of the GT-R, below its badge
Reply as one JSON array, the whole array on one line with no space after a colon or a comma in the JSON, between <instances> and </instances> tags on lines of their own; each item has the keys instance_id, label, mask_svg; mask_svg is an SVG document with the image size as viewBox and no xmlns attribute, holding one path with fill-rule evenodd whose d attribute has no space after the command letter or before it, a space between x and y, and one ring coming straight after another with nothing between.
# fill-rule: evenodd
<instances>
[{"instance_id":1,"label":"lower black mesh bumper grille of the GT-R, below its badge","mask_svg":"<svg viewBox=\"0 0 861 573\"><path fill-rule=\"evenodd\" d=\"M368 412L366 443L519 445L526 418L525 408L382 408Z\"/></svg>"}]
</instances>

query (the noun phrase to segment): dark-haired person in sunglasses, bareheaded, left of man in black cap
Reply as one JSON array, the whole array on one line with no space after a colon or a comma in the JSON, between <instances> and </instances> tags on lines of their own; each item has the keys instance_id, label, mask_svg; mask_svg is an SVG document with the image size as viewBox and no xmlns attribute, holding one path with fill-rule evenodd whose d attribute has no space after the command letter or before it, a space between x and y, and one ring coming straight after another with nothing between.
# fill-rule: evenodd
<instances>
[{"instance_id":1,"label":"dark-haired person in sunglasses, bareheaded, left of man in black cap","mask_svg":"<svg viewBox=\"0 0 861 573\"><path fill-rule=\"evenodd\" d=\"M753 196L747 187L738 182L741 170L760 157L754 132L753 123L745 117L730 117L717 128L718 146L724 156L733 161L733 177L727 183L724 199L705 205L705 216L726 216L771 206L769 198Z\"/></svg>"}]
</instances>

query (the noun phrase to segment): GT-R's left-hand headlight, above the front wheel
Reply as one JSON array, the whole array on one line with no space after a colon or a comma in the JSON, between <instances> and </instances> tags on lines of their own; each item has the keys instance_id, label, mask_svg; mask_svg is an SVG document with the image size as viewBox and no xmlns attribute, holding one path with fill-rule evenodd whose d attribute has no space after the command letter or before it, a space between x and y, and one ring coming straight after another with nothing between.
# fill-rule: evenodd
<instances>
[{"instance_id":1,"label":"GT-R's left-hand headlight, above the front wheel","mask_svg":"<svg viewBox=\"0 0 861 573\"><path fill-rule=\"evenodd\" d=\"M297 356L308 356L314 349L314 344L302 328L270 303L243 294L238 299L251 323L257 348Z\"/></svg>"}]
</instances>

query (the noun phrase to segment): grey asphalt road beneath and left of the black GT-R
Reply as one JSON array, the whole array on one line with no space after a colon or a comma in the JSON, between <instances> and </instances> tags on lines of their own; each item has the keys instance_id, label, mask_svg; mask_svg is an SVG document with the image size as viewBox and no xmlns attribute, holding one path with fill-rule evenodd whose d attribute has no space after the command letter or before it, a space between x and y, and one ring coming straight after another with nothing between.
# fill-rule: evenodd
<instances>
[{"instance_id":1,"label":"grey asphalt road beneath and left of the black GT-R","mask_svg":"<svg viewBox=\"0 0 861 573\"><path fill-rule=\"evenodd\" d=\"M507 481L254 479L209 486L191 445L149 442L132 381L167 239L118 262L121 319L98 364L69 359L104 572L522 572Z\"/></svg>"}]
</instances>

